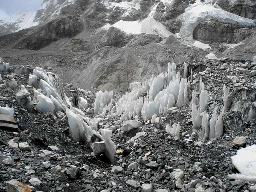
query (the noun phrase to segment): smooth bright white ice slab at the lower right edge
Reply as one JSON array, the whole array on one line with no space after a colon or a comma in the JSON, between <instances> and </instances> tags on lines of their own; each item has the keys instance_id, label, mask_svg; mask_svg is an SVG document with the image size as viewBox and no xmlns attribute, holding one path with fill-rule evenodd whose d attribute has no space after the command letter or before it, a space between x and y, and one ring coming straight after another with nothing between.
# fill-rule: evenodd
<instances>
[{"instance_id":1,"label":"smooth bright white ice slab at the lower right edge","mask_svg":"<svg viewBox=\"0 0 256 192\"><path fill-rule=\"evenodd\" d=\"M232 174L231 177L240 180L256 181L256 145L251 145L237 151L237 154L231 157L233 165L241 173Z\"/></svg>"}]
</instances>

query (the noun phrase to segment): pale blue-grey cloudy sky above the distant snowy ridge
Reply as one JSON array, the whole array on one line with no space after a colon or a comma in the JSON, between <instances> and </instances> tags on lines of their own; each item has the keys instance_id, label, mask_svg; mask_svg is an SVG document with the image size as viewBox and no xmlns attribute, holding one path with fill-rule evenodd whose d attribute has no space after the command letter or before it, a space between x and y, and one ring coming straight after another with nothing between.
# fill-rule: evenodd
<instances>
[{"instance_id":1,"label":"pale blue-grey cloudy sky above the distant snowy ridge","mask_svg":"<svg viewBox=\"0 0 256 192\"><path fill-rule=\"evenodd\" d=\"M19 11L36 11L42 2L43 0L0 0L0 19Z\"/></svg>"}]
</instances>

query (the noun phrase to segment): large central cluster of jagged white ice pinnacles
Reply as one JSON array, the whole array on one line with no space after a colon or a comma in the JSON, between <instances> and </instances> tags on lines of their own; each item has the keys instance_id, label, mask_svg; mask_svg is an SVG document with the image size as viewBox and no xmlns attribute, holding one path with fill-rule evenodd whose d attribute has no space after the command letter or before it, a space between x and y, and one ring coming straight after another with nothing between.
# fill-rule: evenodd
<instances>
[{"instance_id":1,"label":"large central cluster of jagged white ice pinnacles","mask_svg":"<svg viewBox=\"0 0 256 192\"><path fill-rule=\"evenodd\" d=\"M166 113L175 103L181 106L189 101L188 81L184 78L180 80L180 72L176 73L175 63L168 63L168 73L152 75L143 83L131 83L130 89L113 108L115 115L123 113L119 122L138 115L142 115L144 120L150 119L154 114Z\"/></svg>"}]
</instances>

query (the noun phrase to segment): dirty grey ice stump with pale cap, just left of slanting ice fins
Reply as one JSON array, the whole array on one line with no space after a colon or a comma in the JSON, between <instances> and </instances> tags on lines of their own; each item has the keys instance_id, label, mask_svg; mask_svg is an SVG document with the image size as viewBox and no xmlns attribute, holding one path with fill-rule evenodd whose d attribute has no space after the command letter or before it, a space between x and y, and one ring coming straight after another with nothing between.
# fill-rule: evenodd
<instances>
[{"instance_id":1,"label":"dirty grey ice stump with pale cap, just left of slanting ice fins","mask_svg":"<svg viewBox=\"0 0 256 192\"><path fill-rule=\"evenodd\" d=\"M32 112L32 101L30 98L30 93L24 85L21 85L21 90L19 90L18 93L16 93L16 97L18 99L18 104L22 108L28 110L29 112Z\"/></svg>"}]
</instances>

